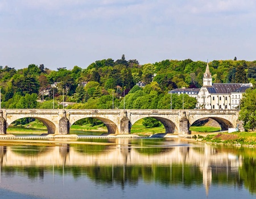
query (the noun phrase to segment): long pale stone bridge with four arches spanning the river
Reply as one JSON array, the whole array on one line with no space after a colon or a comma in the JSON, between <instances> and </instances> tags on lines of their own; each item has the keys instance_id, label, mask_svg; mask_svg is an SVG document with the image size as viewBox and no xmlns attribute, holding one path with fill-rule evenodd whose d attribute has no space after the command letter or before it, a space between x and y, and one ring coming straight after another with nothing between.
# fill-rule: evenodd
<instances>
[{"instance_id":1,"label":"long pale stone bridge with four arches spanning the river","mask_svg":"<svg viewBox=\"0 0 256 199\"><path fill-rule=\"evenodd\" d=\"M238 125L242 128L238 115L236 110L1 109L0 134L6 134L8 126L21 118L39 119L46 125L48 134L69 134L73 123L83 118L104 122L109 134L130 134L134 123L147 117L162 122L166 133L190 134L189 127L203 118L214 119L222 130Z\"/></svg>"}]
</instances>

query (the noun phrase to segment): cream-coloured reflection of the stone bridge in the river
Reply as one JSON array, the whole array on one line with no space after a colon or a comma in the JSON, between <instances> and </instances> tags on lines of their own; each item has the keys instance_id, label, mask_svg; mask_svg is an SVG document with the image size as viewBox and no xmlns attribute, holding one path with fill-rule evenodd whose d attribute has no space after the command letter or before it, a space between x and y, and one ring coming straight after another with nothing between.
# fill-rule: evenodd
<instances>
[{"instance_id":1,"label":"cream-coloured reflection of the stone bridge in the river","mask_svg":"<svg viewBox=\"0 0 256 199\"><path fill-rule=\"evenodd\" d=\"M42 154L24 156L14 152L13 147L7 146L3 150L0 147L3 166L50 166L50 165L138 165L138 164L195 164L200 167L209 165L226 165L230 160L228 152L214 151L212 146L204 145L205 150L199 152L196 148L187 146L174 146L166 148L165 152L148 156L138 152L138 147L130 147L116 144L108 148L108 152L102 151L99 154L85 154L78 152L75 148L69 148L68 144L49 147ZM127 158L129 157L129 158ZM236 165L238 159L231 159ZM241 163L240 163L241 165Z\"/></svg>"}]
</instances>

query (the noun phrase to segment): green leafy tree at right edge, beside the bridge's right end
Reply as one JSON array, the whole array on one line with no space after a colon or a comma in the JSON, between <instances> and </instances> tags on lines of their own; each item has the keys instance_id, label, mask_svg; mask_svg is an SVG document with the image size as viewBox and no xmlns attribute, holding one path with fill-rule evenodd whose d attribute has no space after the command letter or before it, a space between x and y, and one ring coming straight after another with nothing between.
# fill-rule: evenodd
<instances>
[{"instance_id":1,"label":"green leafy tree at right edge, beside the bridge's right end","mask_svg":"<svg viewBox=\"0 0 256 199\"><path fill-rule=\"evenodd\" d=\"M239 119L243 121L245 130L256 129L256 89L247 89L241 99Z\"/></svg>"}]
</instances>

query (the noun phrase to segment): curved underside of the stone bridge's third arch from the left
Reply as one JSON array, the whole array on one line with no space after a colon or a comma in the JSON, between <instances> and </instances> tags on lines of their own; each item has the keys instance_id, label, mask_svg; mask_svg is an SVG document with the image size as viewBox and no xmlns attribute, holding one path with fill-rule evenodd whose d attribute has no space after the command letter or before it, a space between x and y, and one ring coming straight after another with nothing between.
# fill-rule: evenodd
<instances>
[{"instance_id":1,"label":"curved underside of the stone bridge's third arch from the left","mask_svg":"<svg viewBox=\"0 0 256 199\"><path fill-rule=\"evenodd\" d=\"M137 120L131 121L131 127L134 125L135 122L139 121L139 119L148 118L148 117L155 118L158 121L160 121L165 128L166 134L173 134L174 132L178 131L177 126L170 119L157 117L154 115L141 115L141 117L137 118Z\"/></svg>"}]
</instances>

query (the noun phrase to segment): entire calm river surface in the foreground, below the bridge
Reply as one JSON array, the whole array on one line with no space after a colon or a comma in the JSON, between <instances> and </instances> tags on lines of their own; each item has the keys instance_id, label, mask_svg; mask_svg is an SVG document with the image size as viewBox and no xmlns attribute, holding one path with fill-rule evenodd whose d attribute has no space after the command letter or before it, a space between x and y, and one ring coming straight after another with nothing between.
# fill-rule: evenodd
<instances>
[{"instance_id":1,"label":"entire calm river surface in the foreground, below the bridge","mask_svg":"<svg viewBox=\"0 0 256 199\"><path fill-rule=\"evenodd\" d=\"M79 140L90 144L0 144L1 198L256 198L255 148Z\"/></svg>"}]
</instances>

